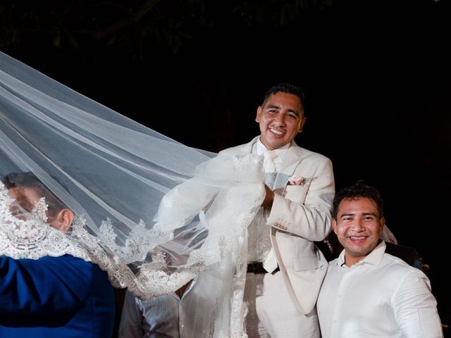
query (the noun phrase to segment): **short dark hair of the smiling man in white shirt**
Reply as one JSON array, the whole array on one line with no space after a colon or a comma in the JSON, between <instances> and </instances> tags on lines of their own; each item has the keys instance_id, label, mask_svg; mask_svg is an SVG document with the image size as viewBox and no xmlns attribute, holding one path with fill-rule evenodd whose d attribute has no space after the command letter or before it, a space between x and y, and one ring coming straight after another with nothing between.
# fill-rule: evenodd
<instances>
[{"instance_id":1,"label":"short dark hair of the smiling man in white shirt","mask_svg":"<svg viewBox=\"0 0 451 338\"><path fill-rule=\"evenodd\" d=\"M355 201L356 199L371 199L376 203L379 212L379 218L383 216L383 200L381 193L371 185L366 184L364 181L357 181L354 185L346 187L335 194L333 199L332 218L337 219L338 206L343 199Z\"/></svg>"}]
</instances>

